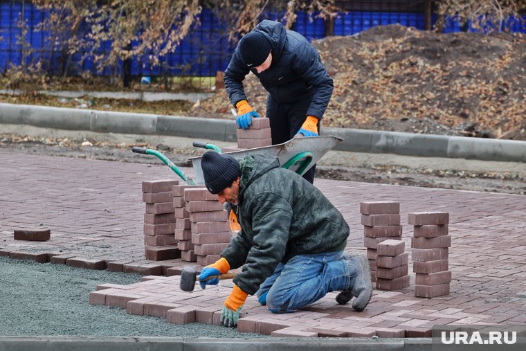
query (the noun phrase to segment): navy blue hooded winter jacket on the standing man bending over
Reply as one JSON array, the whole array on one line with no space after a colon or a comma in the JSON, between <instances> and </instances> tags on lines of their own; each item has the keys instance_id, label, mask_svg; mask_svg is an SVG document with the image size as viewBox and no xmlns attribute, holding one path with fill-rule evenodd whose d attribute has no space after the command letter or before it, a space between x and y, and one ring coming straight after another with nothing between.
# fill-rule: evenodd
<instances>
[{"instance_id":1,"label":"navy blue hooded winter jacket on the standing man bending over","mask_svg":"<svg viewBox=\"0 0 526 351\"><path fill-rule=\"evenodd\" d=\"M235 105L246 100L242 82L252 71L278 102L289 104L311 94L307 115L321 119L334 86L316 49L305 37L287 30L280 22L264 20L253 30L260 31L271 42L272 63L262 73L257 73L254 68L249 70L243 64L237 46L225 71L225 87L230 101Z\"/></svg>"}]
</instances>

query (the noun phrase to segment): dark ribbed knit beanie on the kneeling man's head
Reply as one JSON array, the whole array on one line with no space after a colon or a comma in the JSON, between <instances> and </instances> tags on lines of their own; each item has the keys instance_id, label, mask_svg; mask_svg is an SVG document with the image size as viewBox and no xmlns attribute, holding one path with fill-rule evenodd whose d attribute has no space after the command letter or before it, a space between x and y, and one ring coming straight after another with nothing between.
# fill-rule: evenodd
<instances>
[{"instance_id":1,"label":"dark ribbed knit beanie on the kneeling man's head","mask_svg":"<svg viewBox=\"0 0 526 351\"><path fill-rule=\"evenodd\" d=\"M212 194L217 194L232 185L241 174L239 163L233 156L207 151L201 157L201 169L205 186Z\"/></svg>"}]
</instances>

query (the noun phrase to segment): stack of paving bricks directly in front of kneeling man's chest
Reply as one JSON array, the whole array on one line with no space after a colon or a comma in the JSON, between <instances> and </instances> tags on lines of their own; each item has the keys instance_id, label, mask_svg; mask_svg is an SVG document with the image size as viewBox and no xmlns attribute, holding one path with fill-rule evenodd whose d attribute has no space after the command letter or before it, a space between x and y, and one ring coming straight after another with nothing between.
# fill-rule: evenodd
<instances>
[{"instance_id":1,"label":"stack of paving bricks directly in front of kneeling man's chest","mask_svg":"<svg viewBox=\"0 0 526 351\"><path fill-rule=\"evenodd\" d=\"M190 213L191 243L197 264L208 266L219 260L219 253L228 246L227 212L217 195L206 188L185 189L186 210Z\"/></svg>"}]
</instances>

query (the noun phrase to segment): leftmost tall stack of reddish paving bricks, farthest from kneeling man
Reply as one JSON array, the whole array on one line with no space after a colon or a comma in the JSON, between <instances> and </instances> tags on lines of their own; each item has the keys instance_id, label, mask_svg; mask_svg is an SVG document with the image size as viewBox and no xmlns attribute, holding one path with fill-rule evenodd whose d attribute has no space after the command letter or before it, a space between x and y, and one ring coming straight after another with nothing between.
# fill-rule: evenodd
<instances>
[{"instance_id":1,"label":"leftmost tall stack of reddish paving bricks, farthest from kneeling man","mask_svg":"<svg viewBox=\"0 0 526 351\"><path fill-rule=\"evenodd\" d=\"M143 181L145 257L161 261L179 258L174 237L175 217L172 204L172 186L176 180Z\"/></svg>"}]
</instances>

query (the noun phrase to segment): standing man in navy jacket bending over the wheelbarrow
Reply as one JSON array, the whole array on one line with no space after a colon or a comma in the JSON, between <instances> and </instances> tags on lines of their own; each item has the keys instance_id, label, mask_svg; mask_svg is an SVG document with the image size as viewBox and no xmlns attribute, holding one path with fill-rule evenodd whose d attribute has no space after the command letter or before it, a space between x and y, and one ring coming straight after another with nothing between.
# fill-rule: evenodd
<instances>
[{"instance_id":1,"label":"standing man in navy jacket bending over the wheelbarrow","mask_svg":"<svg viewBox=\"0 0 526 351\"><path fill-rule=\"evenodd\" d=\"M320 55L305 37L280 22L264 20L239 41L224 79L230 102L237 108L237 127L243 129L250 127L252 117L259 117L243 88L250 71L269 91L266 117L273 145L295 136L320 134L320 120L334 86ZM315 172L316 165L303 177L313 183Z\"/></svg>"}]
</instances>

